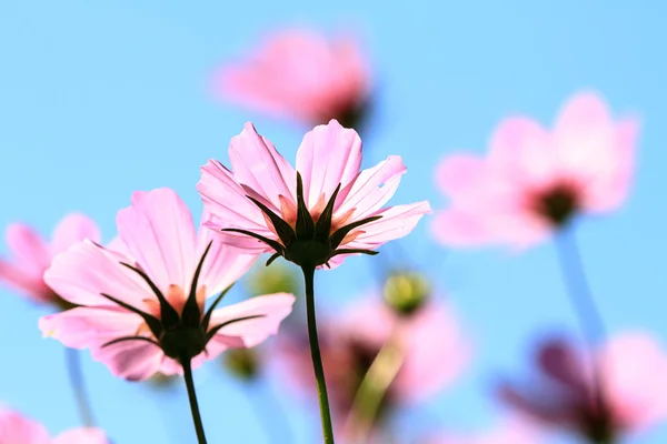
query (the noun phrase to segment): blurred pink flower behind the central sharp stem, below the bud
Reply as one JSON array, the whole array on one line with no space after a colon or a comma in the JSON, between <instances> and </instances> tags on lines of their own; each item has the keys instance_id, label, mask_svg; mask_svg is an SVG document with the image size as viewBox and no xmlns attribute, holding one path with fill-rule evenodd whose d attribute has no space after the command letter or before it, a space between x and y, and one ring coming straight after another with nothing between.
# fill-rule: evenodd
<instances>
[{"instance_id":1,"label":"blurred pink flower behind the central sharp stem, below the bud","mask_svg":"<svg viewBox=\"0 0 667 444\"><path fill-rule=\"evenodd\" d=\"M400 316L380 297L351 304L320 327L320 349L332 407L345 421L361 380L380 349L397 332L405 362L389 387L380 416L392 406L417 403L452 384L470 357L452 311L430 301L409 316ZM313 390L303 329L287 330L278 340L278 360L289 382L300 392Z\"/></svg>"}]
</instances>

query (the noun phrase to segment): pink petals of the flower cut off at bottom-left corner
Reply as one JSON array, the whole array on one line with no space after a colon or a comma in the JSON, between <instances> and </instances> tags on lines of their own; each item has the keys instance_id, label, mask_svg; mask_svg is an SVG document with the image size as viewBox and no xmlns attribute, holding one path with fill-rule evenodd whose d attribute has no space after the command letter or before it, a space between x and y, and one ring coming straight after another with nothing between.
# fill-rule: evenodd
<instances>
[{"instance_id":1,"label":"pink petals of the flower cut off at bottom-left corner","mask_svg":"<svg viewBox=\"0 0 667 444\"><path fill-rule=\"evenodd\" d=\"M0 407L0 444L108 444L99 428L72 428L51 437L47 428L18 412Z\"/></svg>"}]
</instances>

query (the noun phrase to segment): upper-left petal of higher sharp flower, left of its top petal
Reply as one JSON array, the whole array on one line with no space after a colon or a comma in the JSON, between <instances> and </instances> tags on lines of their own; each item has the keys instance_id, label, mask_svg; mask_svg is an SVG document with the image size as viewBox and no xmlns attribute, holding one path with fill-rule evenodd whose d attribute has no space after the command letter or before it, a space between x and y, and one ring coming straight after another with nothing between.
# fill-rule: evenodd
<instances>
[{"instance_id":1,"label":"upper-left petal of higher sharp flower, left of its top petal","mask_svg":"<svg viewBox=\"0 0 667 444\"><path fill-rule=\"evenodd\" d=\"M278 195L295 202L296 172L267 139L248 122L239 135L231 138L229 160L236 180L280 209Z\"/></svg>"}]
</instances>

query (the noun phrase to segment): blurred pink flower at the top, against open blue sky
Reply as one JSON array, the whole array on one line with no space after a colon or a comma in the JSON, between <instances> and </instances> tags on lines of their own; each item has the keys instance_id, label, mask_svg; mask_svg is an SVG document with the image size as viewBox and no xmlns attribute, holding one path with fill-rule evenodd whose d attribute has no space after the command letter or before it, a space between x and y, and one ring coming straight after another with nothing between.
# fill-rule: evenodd
<instances>
[{"instance_id":1,"label":"blurred pink flower at the top, against open blue sky","mask_svg":"<svg viewBox=\"0 0 667 444\"><path fill-rule=\"evenodd\" d=\"M358 129L368 111L369 68L350 38L289 30L272 36L248 60L222 67L216 93L310 125L331 119Z\"/></svg>"}]
</instances>

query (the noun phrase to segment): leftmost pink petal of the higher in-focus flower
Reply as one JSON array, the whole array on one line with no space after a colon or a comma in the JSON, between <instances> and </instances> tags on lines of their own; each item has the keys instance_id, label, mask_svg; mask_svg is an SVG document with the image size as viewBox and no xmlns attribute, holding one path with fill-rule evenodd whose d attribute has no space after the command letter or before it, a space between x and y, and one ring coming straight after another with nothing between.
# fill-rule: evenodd
<instances>
[{"instance_id":1,"label":"leftmost pink petal of the higher in-focus flower","mask_svg":"<svg viewBox=\"0 0 667 444\"><path fill-rule=\"evenodd\" d=\"M201 167L201 180L197 190L201 194L206 212L223 222L221 226L270 234L261 210L247 198L247 192L220 162L210 160Z\"/></svg>"}]
</instances>

